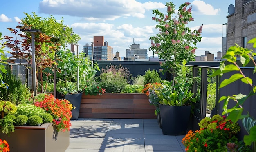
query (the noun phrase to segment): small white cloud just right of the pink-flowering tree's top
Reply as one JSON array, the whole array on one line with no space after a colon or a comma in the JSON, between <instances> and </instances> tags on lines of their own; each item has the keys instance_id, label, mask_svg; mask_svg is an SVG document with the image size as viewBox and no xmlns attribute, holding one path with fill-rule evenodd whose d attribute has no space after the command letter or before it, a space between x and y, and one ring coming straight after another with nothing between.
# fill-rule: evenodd
<instances>
[{"instance_id":1,"label":"small white cloud just right of the pink-flowering tree's top","mask_svg":"<svg viewBox=\"0 0 256 152\"><path fill-rule=\"evenodd\" d=\"M194 0L192 3L193 13L202 14L202 15L218 15L220 9L214 9L210 4L205 3L202 0Z\"/></svg>"}]
</instances>

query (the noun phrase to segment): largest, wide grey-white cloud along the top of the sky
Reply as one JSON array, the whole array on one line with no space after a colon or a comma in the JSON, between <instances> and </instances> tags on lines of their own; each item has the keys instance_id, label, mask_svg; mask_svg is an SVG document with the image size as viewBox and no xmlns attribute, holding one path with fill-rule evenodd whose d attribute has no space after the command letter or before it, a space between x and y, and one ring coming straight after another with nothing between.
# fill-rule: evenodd
<instances>
[{"instance_id":1,"label":"largest, wide grey-white cloud along the top of the sky","mask_svg":"<svg viewBox=\"0 0 256 152\"><path fill-rule=\"evenodd\" d=\"M161 2L140 3L136 0L43 0L40 13L83 17L90 21L115 20L120 17L145 18L145 11L164 8Z\"/></svg>"}]
</instances>

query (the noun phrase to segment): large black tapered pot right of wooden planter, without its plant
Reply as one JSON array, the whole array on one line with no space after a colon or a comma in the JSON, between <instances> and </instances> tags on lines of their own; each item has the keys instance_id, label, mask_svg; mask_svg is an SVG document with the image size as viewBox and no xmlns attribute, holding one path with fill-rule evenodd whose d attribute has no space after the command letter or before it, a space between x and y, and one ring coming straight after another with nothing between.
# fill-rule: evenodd
<instances>
[{"instance_id":1,"label":"large black tapered pot right of wooden planter, without its plant","mask_svg":"<svg viewBox=\"0 0 256 152\"><path fill-rule=\"evenodd\" d=\"M160 105L162 131L165 135L184 135L189 124L191 106Z\"/></svg>"}]
</instances>

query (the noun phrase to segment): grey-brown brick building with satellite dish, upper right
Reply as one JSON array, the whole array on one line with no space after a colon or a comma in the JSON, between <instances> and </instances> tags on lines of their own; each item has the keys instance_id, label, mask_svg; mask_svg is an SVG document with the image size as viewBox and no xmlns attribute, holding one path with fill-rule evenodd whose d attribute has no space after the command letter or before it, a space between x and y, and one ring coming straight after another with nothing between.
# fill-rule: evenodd
<instances>
[{"instance_id":1,"label":"grey-brown brick building with satellite dish, upper right","mask_svg":"<svg viewBox=\"0 0 256 152\"><path fill-rule=\"evenodd\" d=\"M222 55L225 55L227 49L235 44L254 49L253 44L247 44L255 37L256 7L254 6L256 6L256 0L235 0L235 6L229 5L227 23L223 24L227 28L222 41Z\"/></svg>"}]
</instances>

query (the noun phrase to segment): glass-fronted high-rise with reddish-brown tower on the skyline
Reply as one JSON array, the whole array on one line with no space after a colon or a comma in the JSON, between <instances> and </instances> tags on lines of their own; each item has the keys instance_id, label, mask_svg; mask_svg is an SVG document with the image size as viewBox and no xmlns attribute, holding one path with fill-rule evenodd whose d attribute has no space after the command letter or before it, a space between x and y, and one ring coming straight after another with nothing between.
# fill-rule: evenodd
<instances>
[{"instance_id":1,"label":"glass-fronted high-rise with reddish-brown tower on the skyline","mask_svg":"<svg viewBox=\"0 0 256 152\"><path fill-rule=\"evenodd\" d=\"M104 42L104 36L93 36L93 59L94 60L112 60L113 48L108 46L108 42ZM83 52L92 59L92 45L85 44Z\"/></svg>"}]
</instances>

